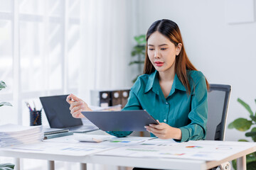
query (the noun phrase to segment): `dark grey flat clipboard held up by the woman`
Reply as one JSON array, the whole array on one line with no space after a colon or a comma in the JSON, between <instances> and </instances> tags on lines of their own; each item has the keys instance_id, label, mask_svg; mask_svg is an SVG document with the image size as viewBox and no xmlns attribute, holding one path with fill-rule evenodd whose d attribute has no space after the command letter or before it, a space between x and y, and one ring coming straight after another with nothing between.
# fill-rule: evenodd
<instances>
[{"instance_id":1,"label":"dark grey flat clipboard held up by the woman","mask_svg":"<svg viewBox=\"0 0 256 170\"><path fill-rule=\"evenodd\" d=\"M104 131L146 131L145 125L159 124L143 110L82 111L82 115Z\"/></svg>"}]
</instances>

